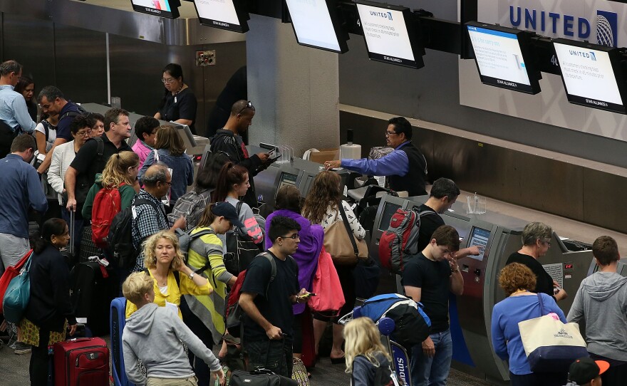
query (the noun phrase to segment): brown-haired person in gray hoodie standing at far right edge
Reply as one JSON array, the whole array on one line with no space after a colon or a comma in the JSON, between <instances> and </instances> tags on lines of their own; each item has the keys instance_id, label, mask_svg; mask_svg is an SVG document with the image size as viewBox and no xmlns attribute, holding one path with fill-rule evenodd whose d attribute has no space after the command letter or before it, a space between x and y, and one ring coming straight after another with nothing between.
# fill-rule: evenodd
<instances>
[{"instance_id":1,"label":"brown-haired person in gray hoodie standing at far right edge","mask_svg":"<svg viewBox=\"0 0 627 386\"><path fill-rule=\"evenodd\" d=\"M601 375L603 385L624 385L627 379L627 278L616 273L618 245L610 236L592 244L598 271L581 281L569 322L586 323L588 352L606 360L610 369Z\"/></svg>"}]
</instances>

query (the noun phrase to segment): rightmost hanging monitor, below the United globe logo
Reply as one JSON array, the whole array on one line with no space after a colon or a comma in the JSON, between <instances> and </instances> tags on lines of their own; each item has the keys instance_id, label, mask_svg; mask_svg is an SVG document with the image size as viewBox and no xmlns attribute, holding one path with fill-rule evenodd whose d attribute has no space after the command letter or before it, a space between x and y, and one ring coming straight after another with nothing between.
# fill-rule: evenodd
<instances>
[{"instance_id":1,"label":"rightmost hanging monitor, below the United globe logo","mask_svg":"<svg viewBox=\"0 0 627 386\"><path fill-rule=\"evenodd\" d=\"M561 38L553 41L553 47L570 103L626 113L618 48Z\"/></svg>"}]
</instances>

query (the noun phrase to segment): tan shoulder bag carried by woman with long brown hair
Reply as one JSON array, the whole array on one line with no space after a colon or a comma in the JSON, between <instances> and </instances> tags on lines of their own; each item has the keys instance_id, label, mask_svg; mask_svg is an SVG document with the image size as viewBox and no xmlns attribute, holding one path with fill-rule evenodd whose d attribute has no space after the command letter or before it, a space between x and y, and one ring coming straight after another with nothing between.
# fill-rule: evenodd
<instances>
[{"instance_id":1,"label":"tan shoulder bag carried by woman with long brown hair","mask_svg":"<svg viewBox=\"0 0 627 386\"><path fill-rule=\"evenodd\" d=\"M335 221L324 230L324 247L331 254L333 263L354 266L358 259L368 259L368 244L366 240L355 241L342 203L338 206L338 212L342 216L342 221Z\"/></svg>"}]
</instances>

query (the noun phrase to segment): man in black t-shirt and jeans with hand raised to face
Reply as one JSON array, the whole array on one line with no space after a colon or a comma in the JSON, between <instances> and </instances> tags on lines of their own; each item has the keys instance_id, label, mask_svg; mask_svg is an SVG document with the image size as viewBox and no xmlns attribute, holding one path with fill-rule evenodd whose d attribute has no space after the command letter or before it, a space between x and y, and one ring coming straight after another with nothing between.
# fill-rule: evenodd
<instances>
[{"instance_id":1,"label":"man in black t-shirt and jeans with hand raised to face","mask_svg":"<svg viewBox=\"0 0 627 386\"><path fill-rule=\"evenodd\" d=\"M450 225L435 229L422 253L411 259L403 270L405 294L423 303L431 319L431 335L412 350L412 385L446 385L453 353L448 320L449 291L464 292L464 278L457 266L455 252L460 235Z\"/></svg>"}]
</instances>

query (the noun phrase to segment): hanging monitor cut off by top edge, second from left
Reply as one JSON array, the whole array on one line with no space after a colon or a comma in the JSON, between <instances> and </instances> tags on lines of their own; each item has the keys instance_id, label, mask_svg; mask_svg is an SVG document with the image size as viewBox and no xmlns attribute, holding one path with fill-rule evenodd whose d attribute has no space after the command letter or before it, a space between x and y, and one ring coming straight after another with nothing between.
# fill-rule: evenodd
<instances>
[{"instance_id":1,"label":"hanging monitor cut off by top edge, second from left","mask_svg":"<svg viewBox=\"0 0 627 386\"><path fill-rule=\"evenodd\" d=\"M235 32L248 31L250 19L243 0L193 0L200 24Z\"/></svg>"}]
</instances>

